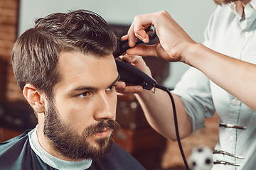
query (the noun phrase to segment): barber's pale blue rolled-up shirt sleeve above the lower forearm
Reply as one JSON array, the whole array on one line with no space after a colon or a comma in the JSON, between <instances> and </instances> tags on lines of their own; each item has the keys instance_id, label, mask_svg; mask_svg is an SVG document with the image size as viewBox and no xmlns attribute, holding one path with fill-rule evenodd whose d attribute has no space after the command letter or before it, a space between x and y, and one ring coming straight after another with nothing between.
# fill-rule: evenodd
<instances>
[{"instance_id":1,"label":"barber's pale blue rolled-up shirt sleeve above the lower forearm","mask_svg":"<svg viewBox=\"0 0 256 170\"><path fill-rule=\"evenodd\" d=\"M191 67L172 92L181 98L193 131L203 128L204 119L212 117L215 112L209 79L198 69Z\"/></svg>"}]
</instances>

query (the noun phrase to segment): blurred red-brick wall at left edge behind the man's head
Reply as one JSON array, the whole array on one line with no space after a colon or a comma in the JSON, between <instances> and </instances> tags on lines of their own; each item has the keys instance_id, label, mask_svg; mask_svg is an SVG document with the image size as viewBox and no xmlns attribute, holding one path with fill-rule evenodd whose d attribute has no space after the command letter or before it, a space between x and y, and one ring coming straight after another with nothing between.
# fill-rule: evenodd
<instances>
[{"instance_id":1,"label":"blurred red-brick wall at left edge behind the man's head","mask_svg":"<svg viewBox=\"0 0 256 170\"><path fill-rule=\"evenodd\" d=\"M0 59L4 62L5 69L1 81L0 97L5 101L24 100L21 90L16 84L16 79L11 69L11 49L17 38L18 27L18 0L0 0Z\"/></svg>"}]
</instances>

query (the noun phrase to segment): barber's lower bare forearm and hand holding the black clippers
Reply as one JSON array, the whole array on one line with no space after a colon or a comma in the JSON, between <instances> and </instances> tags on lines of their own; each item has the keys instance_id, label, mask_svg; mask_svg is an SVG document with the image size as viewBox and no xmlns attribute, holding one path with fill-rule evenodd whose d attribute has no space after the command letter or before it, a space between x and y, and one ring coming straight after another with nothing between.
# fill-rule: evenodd
<instances>
[{"instance_id":1,"label":"barber's lower bare forearm and hand holding the black clippers","mask_svg":"<svg viewBox=\"0 0 256 170\"><path fill-rule=\"evenodd\" d=\"M124 55L123 60L134 64L135 67L141 69L143 72L151 76L149 67L142 57L136 55ZM137 97L146 120L149 122L152 128L165 137L176 140L176 132L174 127L174 114L171 105L171 99L166 91L156 89L153 94L152 91L142 89L142 86L126 86L124 82L119 81L116 87L117 91L122 94L133 94ZM185 108L181 99L175 94L174 101L176 105L178 128L180 137L186 137L192 132L192 124L188 120Z\"/></svg>"}]
</instances>

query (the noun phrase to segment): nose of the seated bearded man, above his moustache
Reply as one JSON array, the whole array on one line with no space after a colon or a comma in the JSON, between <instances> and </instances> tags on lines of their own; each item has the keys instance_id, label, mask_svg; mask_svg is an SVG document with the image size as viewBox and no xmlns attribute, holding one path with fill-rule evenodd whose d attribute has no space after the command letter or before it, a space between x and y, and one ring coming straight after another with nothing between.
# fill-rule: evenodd
<instances>
[{"instance_id":1,"label":"nose of the seated bearded man, above his moustache","mask_svg":"<svg viewBox=\"0 0 256 170\"><path fill-rule=\"evenodd\" d=\"M114 99L107 96L105 92L100 93L97 98L97 106L95 109L95 120L107 120L115 117Z\"/></svg>"}]
</instances>

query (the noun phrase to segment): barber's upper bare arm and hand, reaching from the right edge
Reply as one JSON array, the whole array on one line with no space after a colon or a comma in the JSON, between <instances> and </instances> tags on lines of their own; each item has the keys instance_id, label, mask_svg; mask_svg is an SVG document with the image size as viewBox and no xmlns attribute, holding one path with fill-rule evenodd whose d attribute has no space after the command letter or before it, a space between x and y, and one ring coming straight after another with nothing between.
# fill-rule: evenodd
<instances>
[{"instance_id":1,"label":"barber's upper bare arm and hand, reaching from the right edge","mask_svg":"<svg viewBox=\"0 0 256 170\"><path fill-rule=\"evenodd\" d=\"M153 46L138 45L128 50L127 54L161 57L169 62L191 65L256 111L255 64L222 55L194 42L166 11L136 16L128 34L122 39L128 38L131 47L135 45L136 38L149 42L148 35L143 30L147 25L156 28L159 42ZM142 100L144 103L148 102L147 98L142 97Z\"/></svg>"}]
</instances>

